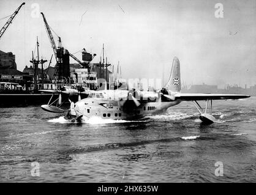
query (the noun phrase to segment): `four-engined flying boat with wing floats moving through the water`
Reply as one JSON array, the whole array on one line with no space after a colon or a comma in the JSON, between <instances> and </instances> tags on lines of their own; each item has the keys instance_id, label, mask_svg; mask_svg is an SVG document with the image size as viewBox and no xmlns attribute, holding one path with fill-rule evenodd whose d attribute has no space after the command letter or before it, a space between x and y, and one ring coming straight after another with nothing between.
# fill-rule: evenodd
<instances>
[{"instance_id":1,"label":"four-engined flying boat with wing floats moving through the water","mask_svg":"<svg viewBox=\"0 0 256 195\"><path fill-rule=\"evenodd\" d=\"M105 85L106 86L106 85ZM74 91L73 91L74 92ZM61 91L61 93L66 93ZM60 93L60 96L61 96ZM211 94L211 93L181 93L180 64L177 57L173 59L171 73L166 85L156 91L107 90L86 91L88 98L70 101L70 108L65 116L71 122L83 122L92 116L102 119L141 119L148 115L165 113L168 108L190 101L194 104L203 123L211 124L216 121L213 116L213 100L243 99L250 96L245 94ZM72 94L72 93L69 93ZM78 94L75 91L73 94ZM60 98L59 98L60 99ZM205 108L198 101L205 101ZM59 101L59 105L61 102ZM48 112L64 112L60 106L42 105Z\"/></svg>"}]
</instances>

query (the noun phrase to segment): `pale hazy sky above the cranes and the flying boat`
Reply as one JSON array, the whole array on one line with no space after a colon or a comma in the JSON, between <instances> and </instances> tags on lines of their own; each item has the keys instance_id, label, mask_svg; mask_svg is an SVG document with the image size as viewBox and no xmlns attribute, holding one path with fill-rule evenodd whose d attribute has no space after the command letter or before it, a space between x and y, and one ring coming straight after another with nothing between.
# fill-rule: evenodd
<instances>
[{"instance_id":1,"label":"pale hazy sky above the cranes and the flying boat","mask_svg":"<svg viewBox=\"0 0 256 195\"><path fill-rule=\"evenodd\" d=\"M0 18L12 14L22 2L0 0ZM12 51L21 71L29 65L37 36L40 56L50 60L53 54L42 16L31 16L31 5L37 3L66 49L74 53L86 48L97 54L93 62L99 62L104 43L108 61L117 65L119 60L126 79L160 78L163 69L167 79L176 56L181 80L187 84L256 84L254 0L24 2L0 40L0 50ZM224 18L214 16L217 2L224 5ZM0 27L6 21L0 20ZM58 44L56 36L55 41ZM75 55L81 59L80 53Z\"/></svg>"}]
</instances>

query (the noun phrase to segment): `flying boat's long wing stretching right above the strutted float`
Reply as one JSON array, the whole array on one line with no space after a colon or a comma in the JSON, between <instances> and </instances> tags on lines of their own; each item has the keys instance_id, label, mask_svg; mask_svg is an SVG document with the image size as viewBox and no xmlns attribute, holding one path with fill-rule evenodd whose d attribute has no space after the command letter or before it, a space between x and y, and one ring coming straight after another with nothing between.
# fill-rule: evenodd
<instances>
[{"instance_id":1,"label":"flying boat's long wing stretching right above the strutted float","mask_svg":"<svg viewBox=\"0 0 256 195\"><path fill-rule=\"evenodd\" d=\"M176 93L176 101L200 101L207 99L242 99L250 98L244 94L213 94L213 93Z\"/></svg>"}]
</instances>

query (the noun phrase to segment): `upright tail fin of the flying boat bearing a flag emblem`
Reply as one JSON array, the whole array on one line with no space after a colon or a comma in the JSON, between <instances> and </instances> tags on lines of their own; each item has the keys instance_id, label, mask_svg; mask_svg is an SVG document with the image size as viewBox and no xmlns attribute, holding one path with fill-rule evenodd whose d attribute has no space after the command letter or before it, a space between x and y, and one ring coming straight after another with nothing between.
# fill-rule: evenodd
<instances>
[{"instance_id":1,"label":"upright tail fin of the flying boat bearing a flag emblem","mask_svg":"<svg viewBox=\"0 0 256 195\"><path fill-rule=\"evenodd\" d=\"M179 59L177 57L173 59L170 78L165 84L164 88L167 88L168 90L173 92L181 91L181 70L179 66Z\"/></svg>"}]
</instances>

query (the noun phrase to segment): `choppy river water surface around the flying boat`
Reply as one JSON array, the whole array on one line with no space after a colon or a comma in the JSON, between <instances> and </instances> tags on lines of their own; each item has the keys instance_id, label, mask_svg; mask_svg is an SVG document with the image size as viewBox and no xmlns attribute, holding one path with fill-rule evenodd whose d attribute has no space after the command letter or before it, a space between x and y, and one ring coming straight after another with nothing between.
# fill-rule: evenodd
<instances>
[{"instance_id":1,"label":"choppy river water surface around the flying boat","mask_svg":"<svg viewBox=\"0 0 256 195\"><path fill-rule=\"evenodd\" d=\"M0 108L0 181L256 182L256 98L213 104L209 126L191 102L140 121L83 124L38 106Z\"/></svg>"}]
</instances>

